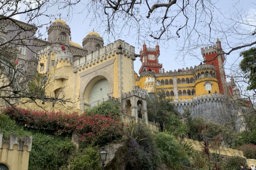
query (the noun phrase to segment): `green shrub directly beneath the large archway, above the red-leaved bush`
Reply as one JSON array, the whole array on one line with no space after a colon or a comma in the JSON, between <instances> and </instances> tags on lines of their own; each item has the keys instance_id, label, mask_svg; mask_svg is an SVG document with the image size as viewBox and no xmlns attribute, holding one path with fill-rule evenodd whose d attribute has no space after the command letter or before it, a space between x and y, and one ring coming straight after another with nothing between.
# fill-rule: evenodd
<instances>
[{"instance_id":1,"label":"green shrub directly beneath the large archway, above the red-leaved bush","mask_svg":"<svg viewBox=\"0 0 256 170\"><path fill-rule=\"evenodd\" d=\"M121 105L118 102L104 101L99 105L86 109L85 112L88 112L88 114L93 114L93 115L108 116L110 113L112 117L115 115L120 116Z\"/></svg>"}]
</instances>

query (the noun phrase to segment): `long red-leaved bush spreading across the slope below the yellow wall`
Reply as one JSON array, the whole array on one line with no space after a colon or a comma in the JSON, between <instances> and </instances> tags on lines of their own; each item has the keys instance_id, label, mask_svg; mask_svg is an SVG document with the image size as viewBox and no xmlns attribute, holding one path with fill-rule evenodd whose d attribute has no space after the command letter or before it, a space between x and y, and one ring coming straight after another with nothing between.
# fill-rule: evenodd
<instances>
[{"instance_id":1,"label":"long red-leaved bush spreading across the slope below the yellow wall","mask_svg":"<svg viewBox=\"0 0 256 170\"><path fill-rule=\"evenodd\" d=\"M77 133L84 144L100 145L123 137L123 124L118 116L31 111L12 107L2 112L29 129L44 130L55 135Z\"/></svg>"}]
</instances>

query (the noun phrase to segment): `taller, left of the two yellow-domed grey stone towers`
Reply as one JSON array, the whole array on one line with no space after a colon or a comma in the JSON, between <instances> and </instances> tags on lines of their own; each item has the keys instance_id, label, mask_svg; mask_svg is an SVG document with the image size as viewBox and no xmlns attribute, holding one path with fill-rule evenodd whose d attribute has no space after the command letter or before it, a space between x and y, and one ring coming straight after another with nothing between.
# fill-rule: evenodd
<instances>
[{"instance_id":1,"label":"taller, left of the two yellow-domed grey stone towers","mask_svg":"<svg viewBox=\"0 0 256 170\"><path fill-rule=\"evenodd\" d=\"M48 28L48 42L56 44L55 46L68 46L70 33L70 27L67 23L63 20L56 19Z\"/></svg>"}]
</instances>

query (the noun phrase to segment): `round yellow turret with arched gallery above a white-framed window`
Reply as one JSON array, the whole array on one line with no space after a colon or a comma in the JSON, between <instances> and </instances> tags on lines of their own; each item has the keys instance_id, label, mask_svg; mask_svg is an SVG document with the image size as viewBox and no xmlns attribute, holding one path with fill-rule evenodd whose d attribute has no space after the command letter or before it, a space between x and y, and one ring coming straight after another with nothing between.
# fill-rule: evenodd
<instances>
[{"instance_id":1,"label":"round yellow turret with arched gallery above a white-framed window","mask_svg":"<svg viewBox=\"0 0 256 170\"><path fill-rule=\"evenodd\" d=\"M194 68L196 95L219 93L214 65L198 65Z\"/></svg>"}]
</instances>

